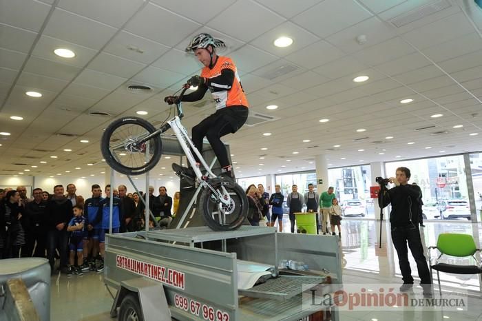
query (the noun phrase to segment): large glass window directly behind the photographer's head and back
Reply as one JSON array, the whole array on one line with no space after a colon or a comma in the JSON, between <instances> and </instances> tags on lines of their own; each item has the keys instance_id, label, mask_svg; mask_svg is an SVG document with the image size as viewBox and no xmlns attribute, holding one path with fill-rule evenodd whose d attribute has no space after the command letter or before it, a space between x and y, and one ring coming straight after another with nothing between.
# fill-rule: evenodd
<instances>
[{"instance_id":1,"label":"large glass window directly behind the photographer's head and back","mask_svg":"<svg viewBox=\"0 0 482 321\"><path fill-rule=\"evenodd\" d=\"M401 166L410 169L409 183L421 188L424 219L470 220L463 155L386 163L386 175L395 177Z\"/></svg>"}]
</instances>

